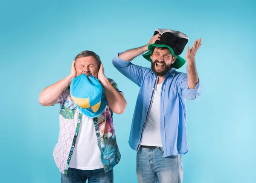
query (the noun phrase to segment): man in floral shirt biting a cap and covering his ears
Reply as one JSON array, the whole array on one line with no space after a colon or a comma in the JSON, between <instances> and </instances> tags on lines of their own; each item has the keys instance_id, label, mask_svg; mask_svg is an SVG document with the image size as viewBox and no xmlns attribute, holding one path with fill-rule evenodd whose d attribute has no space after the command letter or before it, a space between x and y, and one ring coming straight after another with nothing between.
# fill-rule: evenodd
<instances>
[{"instance_id":1,"label":"man in floral shirt biting a cap and covering his ears","mask_svg":"<svg viewBox=\"0 0 256 183\"><path fill-rule=\"evenodd\" d=\"M112 119L113 113L125 111L126 101L117 84L105 76L99 55L92 51L76 55L70 75L46 87L39 102L60 104L53 157L61 183L113 183L113 167L121 155Z\"/></svg>"}]
</instances>

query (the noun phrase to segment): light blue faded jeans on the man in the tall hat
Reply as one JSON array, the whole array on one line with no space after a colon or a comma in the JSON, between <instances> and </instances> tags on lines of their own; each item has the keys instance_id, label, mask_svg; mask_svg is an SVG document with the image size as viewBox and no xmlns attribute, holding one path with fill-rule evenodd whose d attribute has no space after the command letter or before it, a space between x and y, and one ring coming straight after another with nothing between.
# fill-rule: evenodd
<instances>
[{"instance_id":1,"label":"light blue faded jeans on the man in the tall hat","mask_svg":"<svg viewBox=\"0 0 256 183\"><path fill-rule=\"evenodd\" d=\"M182 154L163 157L163 148L141 147L137 152L139 183L182 183Z\"/></svg>"}]
</instances>

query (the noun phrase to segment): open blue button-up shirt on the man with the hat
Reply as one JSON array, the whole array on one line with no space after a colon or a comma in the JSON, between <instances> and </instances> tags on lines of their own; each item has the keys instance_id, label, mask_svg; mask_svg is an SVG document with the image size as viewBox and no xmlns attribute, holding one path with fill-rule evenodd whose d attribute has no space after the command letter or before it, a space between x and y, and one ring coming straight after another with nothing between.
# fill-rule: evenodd
<instances>
[{"instance_id":1,"label":"open blue button-up shirt on the man with the hat","mask_svg":"<svg viewBox=\"0 0 256 183\"><path fill-rule=\"evenodd\" d=\"M140 87L129 138L131 148L138 151L158 77L151 68L124 61L119 58L119 54L112 59L113 66ZM200 93L200 81L195 89L189 89L186 73L177 72L172 68L166 74L160 94L160 133L164 157L186 154L189 151L186 136L186 99L195 100Z\"/></svg>"}]
</instances>

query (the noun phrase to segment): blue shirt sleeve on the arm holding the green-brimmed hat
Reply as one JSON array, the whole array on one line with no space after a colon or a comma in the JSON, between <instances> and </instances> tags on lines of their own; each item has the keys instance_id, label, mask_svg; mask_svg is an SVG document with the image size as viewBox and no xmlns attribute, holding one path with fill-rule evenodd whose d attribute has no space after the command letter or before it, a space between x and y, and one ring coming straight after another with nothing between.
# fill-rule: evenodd
<instances>
[{"instance_id":1,"label":"blue shirt sleeve on the arm holding the green-brimmed hat","mask_svg":"<svg viewBox=\"0 0 256 183\"><path fill-rule=\"evenodd\" d=\"M121 53L122 52L119 52L118 55L116 55L116 57L112 59L113 66L125 77L127 77L140 87L141 82L143 81L145 70L147 70L148 68L132 64L130 61L122 60L121 58L119 58L119 55Z\"/></svg>"}]
</instances>

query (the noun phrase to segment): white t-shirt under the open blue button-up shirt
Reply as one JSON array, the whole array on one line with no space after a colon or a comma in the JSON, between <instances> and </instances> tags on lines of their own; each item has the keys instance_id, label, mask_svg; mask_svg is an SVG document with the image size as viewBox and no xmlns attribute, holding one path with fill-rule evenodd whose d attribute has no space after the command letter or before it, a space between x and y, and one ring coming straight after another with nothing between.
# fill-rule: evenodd
<instances>
[{"instance_id":1,"label":"white t-shirt under the open blue button-up shirt","mask_svg":"<svg viewBox=\"0 0 256 183\"><path fill-rule=\"evenodd\" d=\"M160 93L162 84L157 84L151 109L142 134L141 145L162 147L160 134Z\"/></svg>"}]
</instances>

